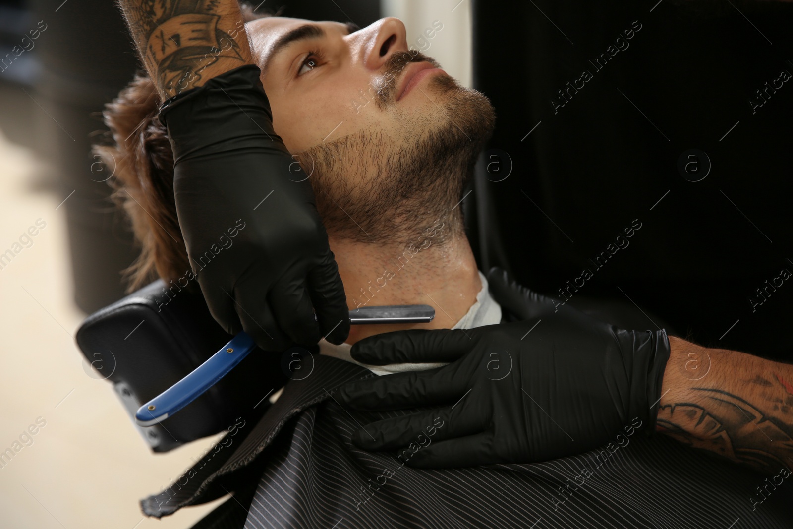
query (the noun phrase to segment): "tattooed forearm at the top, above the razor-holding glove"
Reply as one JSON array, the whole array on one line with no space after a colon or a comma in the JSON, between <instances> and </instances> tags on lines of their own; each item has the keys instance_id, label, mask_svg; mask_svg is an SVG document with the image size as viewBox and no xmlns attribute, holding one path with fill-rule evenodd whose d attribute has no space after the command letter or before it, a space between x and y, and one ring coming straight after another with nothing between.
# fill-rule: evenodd
<instances>
[{"instance_id":1,"label":"tattooed forearm at the top, above the razor-holding glove","mask_svg":"<svg viewBox=\"0 0 793 529\"><path fill-rule=\"evenodd\" d=\"M251 63L236 0L119 0L163 98Z\"/></svg>"}]
</instances>

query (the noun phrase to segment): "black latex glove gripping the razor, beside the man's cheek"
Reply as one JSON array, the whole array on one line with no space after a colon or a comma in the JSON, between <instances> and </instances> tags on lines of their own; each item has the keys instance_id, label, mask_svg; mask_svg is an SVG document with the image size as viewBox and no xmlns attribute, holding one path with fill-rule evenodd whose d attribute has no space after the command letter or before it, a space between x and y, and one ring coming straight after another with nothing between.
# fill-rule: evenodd
<instances>
[{"instance_id":1,"label":"black latex glove gripping the razor, beside the man's cheek","mask_svg":"<svg viewBox=\"0 0 793 529\"><path fill-rule=\"evenodd\" d=\"M215 320L266 351L314 346L331 331L326 339L342 343L350 320L339 269L308 175L273 132L259 67L170 98L160 121L190 266Z\"/></svg>"}]
</instances>

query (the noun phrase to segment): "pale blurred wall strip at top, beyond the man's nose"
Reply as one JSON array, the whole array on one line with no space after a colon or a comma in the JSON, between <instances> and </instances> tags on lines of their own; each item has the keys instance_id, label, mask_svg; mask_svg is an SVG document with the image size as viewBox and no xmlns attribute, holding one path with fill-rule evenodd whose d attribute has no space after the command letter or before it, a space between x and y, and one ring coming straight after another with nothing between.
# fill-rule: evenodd
<instances>
[{"instance_id":1,"label":"pale blurred wall strip at top, beyond the man's nose","mask_svg":"<svg viewBox=\"0 0 793 529\"><path fill-rule=\"evenodd\" d=\"M441 63L447 74L463 86L471 86L471 2L470 0L381 0L384 17L397 17L408 31L408 46ZM433 22L440 31L427 38ZM437 26L437 23L436 23Z\"/></svg>"}]
</instances>

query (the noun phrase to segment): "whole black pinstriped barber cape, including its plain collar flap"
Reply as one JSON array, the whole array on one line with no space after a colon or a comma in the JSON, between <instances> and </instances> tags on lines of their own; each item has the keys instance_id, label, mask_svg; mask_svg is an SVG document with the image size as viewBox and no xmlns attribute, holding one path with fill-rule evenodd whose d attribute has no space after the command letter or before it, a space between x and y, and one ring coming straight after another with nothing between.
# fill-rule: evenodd
<instances>
[{"instance_id":1,"label":"whole black pinstriped barber cape, including its plain collar flap","mask_svg":"<svg viewBox=\"0 0 793 529\"><path fill-rule=\"evenodd\" d=\"M260 420L238 421L169 489L143 500L144 512L160 517L236 491L193 529L791 526L783 476L774 487L771 477L648 438L639 424L599 450L549 462L414 470L404 462L418 442L400 454L351 444L362 424L404 413L357 412L332 396L376 375L324 355L303 362L303 378Z\"/></svg>"}]
</instances>

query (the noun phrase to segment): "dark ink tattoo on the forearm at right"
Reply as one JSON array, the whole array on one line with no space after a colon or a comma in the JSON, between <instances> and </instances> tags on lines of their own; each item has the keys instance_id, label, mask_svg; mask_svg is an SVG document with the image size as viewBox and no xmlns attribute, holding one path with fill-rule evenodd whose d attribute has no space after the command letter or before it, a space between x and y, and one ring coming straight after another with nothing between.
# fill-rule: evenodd
<instances>
[{"instance_id":1,"label":"dark ink tattoo on the forearm at right","mask_svg":"<svg viewBox=\"0 0 793 529\"><path fill-rule=\"evenodd\" d=\"M766 362L752 358L758 366ZM732 373L741 376L739 370ZM754 378L732 384L688 387L688 401L662 403L657 430L763 473L776 474L780 466L793 469L793 385L771 370L753 374Z\"/></svg>"}]
</instances>

